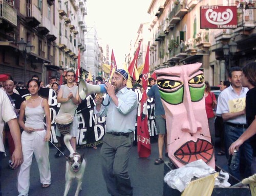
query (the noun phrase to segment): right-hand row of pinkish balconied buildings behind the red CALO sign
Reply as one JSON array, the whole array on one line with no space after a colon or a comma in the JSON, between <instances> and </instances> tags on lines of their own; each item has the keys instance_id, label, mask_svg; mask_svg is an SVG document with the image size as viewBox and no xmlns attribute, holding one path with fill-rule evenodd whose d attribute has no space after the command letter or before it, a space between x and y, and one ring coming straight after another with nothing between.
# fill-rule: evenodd
<instances>
[{"instance_id":1,"label":"right-hand row of pinkish balconied buildings behind the red CALO sign","mask_svg":"<svg viewBox=\"0 0 256 196\"><path fill-rule=\"evenodd\" d=\"M236 29L201 29L201 6L237 6L235 0L153 0L148 8L151 15L150 69L201 62L205 79L217 85L227 79L230 66L243 66L255 61L255 9L252 1L238 6ZM237 52L228 57L223 46L231 41ZM231 56L231 57L230 57ZM228 63L227 63L228 61Z\"/></svg>"}]
</instances>

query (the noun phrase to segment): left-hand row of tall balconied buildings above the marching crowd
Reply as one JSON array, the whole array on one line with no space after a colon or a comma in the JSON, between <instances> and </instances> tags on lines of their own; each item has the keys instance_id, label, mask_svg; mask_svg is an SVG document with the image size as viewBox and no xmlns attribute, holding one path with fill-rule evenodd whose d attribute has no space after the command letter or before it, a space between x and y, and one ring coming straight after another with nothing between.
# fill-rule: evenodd
<instances>
[{"instance_id":1,"label":"left-hand row of tall balconied buildings above the marching crowd","mask_svg":"<svg viewBox=\"0 0 256 196\"><path fill-rule=\"evenodd\" d=\"M86 0L3 0L0 4L1 73L15 81L38 75L47 84L67 69L76 70L78 50L81 61L86 51ZM19 51L21 39L33 45L30 54Z\"/></svg>"}]
</instances>

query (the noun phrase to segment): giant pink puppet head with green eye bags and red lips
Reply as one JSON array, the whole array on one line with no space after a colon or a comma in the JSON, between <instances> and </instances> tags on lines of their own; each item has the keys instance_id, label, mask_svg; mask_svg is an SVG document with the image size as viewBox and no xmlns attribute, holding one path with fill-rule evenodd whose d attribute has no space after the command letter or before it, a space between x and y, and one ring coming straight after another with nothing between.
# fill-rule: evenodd
<instances>
[{"instance_id":1,"label":"giant pink puppet head with green eye bags and red lips","mask_svg":"<svg viewBox=\"0 0 256 196\"><path fill-rule=\"evenodd\" d=\"M170 160L181 167L202 159L215 168L204 99L201 63L155 71L164 106Z\"/></svg>"}]
</instances>

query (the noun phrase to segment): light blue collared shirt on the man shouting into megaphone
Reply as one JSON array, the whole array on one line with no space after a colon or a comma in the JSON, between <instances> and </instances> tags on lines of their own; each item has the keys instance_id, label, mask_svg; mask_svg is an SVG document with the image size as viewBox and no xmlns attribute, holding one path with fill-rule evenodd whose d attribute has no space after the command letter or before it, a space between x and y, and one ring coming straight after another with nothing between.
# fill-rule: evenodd
<instances>
[{"instance_id":1,"label":"light blue collared shirt on the man shouting into megaphone","mask_svg":"<svg viewBox=\"0 0 256 196\"><path fill-rule=\"evenodd\" d=\"M116 94L118 97L118 107L115 106L111 97L107 94L100 111L94 107L94 113L98 117L106 116L106 132L123 132L130 133L135 131L135 122L137 117L137 95L134 91L126 87L119 90ZM108 103L110 102L109 106Z\"/></svg>"}]
</instances>

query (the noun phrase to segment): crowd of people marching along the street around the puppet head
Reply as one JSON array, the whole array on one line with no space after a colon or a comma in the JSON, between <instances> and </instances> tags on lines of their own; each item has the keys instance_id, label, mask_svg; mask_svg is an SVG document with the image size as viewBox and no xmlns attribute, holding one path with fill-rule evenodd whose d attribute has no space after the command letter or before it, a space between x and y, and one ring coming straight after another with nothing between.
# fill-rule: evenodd
<instances>
[{"instance_id":1,"label":"crowd of people marching along the street around the puppet head","mask_svg":"<svg viewBox=\"0 0 256 196\"><path fill-rule=\"evenodd\" d=\"M94 113L98 117L107 116L103 144L101 146L102 174L106 187L111 195L133 195L133 187L127 166L134 140L135 123L137 118L137 95L126 87L129 75L123 69L117 69L111 83L97 78L90 84L105 84L106 97L95 94ZM220 84L221 93L216 99L210 91L210 85L205 82L205 110L208 118L211 142L216 145L216 131L220 133L221 151L217 155L229 155L238 150L236 160L229 167L231 175L241 180L256 173L256 63L251 62L244 67L231 67L229 81ZM155 100L155 118L158 131L159 157L155 164L164 162L163 155L168 157L166 142L165 111L155 79L148 79L148 98ZM38 94L39 88L52 88L57 94L57 101L61 103L59 113L69 113L74 116L70 134L71 145L76 151L76 136L78 116L76 109L81 103L78 86L75 82L75 72L66 73L66 82L59 84L56 77L52 77L44 87L37 76L33 76L27 83L30 98L22 102L22 97L15 89L25 88L22 83L13 82L12 78L3 82L0 90L0 177L2 157L5 155L4 144L8 138L9 166L19 167L17 176L18 195L28 195L29 176L33 154L36 158L40 182L43 188L51 185L51 171L49 162L50 140L50 109L48 101ZM142 88L142 75L133 88ZM109 102L109 103L105 103ZM44 122L46 120L46 123ZM5 125L6 123L6 125ZM46 126L45 126L46 125ZM22 130L22 132L20 131ZM63 135L56 130L59 150L55 158L65 150ZM3 138L2 138L3 137ZM242 171L242 169L244 170ZM0 183L0 195L1 183Z\"/></svg>"}]
</instances>

